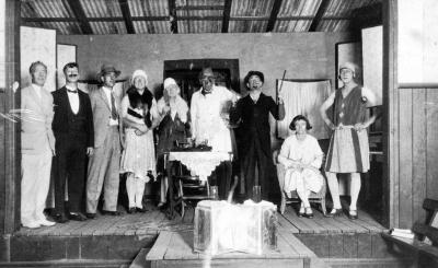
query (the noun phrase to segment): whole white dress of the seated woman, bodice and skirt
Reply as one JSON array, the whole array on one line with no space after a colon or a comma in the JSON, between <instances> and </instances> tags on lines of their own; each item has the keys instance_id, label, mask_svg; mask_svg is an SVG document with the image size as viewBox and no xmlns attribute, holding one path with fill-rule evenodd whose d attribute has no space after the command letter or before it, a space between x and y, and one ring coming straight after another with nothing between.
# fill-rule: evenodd
<instances>
[{"instance_id":1,"label":"whole white dress of the seated woman, bodice and skirt","mask_svg":"<svg viewBox=\"0 0 438 268\"><path fill-rule=\"evenodd\" d=\"M310 164L311 167L299 171L295 167L286 170L284 190L289 196L292 190L303 191L309 189L318 193L324 179L320 173L323 152L318 140L307 135L306 139L299 141L293 133L289 136L281 145L278 162L288 165L288 161L300 161Z\"/></svg>"}]
</instances>

